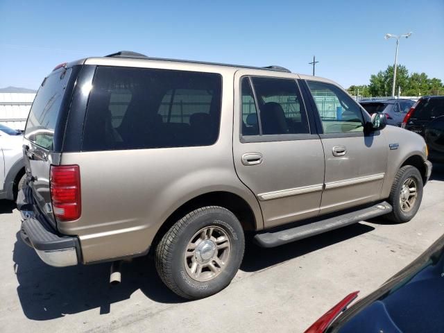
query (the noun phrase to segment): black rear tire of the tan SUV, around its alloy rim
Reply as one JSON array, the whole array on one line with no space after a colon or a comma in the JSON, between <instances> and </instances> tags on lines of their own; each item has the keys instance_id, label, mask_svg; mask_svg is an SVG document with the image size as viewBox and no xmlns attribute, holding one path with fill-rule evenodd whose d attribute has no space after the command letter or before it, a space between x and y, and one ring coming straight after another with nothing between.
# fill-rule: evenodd
<instances>
[{"instance_id":1,"label":"black rear tire of the tan SUV, around its alloy rim","mask_svg":"<svg viewBox=\"0 0 444 333\"><path fill-rule=\"evenodd\" d=\"M229 259L221 272L217 273L219 275L212 280L200 282L192 278L185 268L184 255L194 235L199 230L212 226L225 232L228 237ZM157 273L164 284L178 296L188 299L205 298L218 293L230 284L241 265L244 248L244 230L232 212L218 206L198 208L177 221L157 245L155 253Z\"/></svg>"}]
</instances>

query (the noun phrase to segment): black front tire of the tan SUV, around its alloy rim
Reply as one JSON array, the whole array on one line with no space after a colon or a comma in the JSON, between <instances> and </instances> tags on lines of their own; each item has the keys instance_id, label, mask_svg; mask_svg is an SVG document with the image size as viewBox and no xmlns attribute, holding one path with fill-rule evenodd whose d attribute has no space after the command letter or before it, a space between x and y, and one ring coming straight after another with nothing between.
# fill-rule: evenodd
<instances>
[{"instance_id":1,"label":"black front tire of the tan SUV, around its alloy rim","mask_svg":"<svg viewBox=\"0 0 444 333\"><path fill-rule=\"evenodd\" d=\"M413 179L416 183L417 196L415 203L412 205L409 212L404 212L400 203L400 193L402 191L402 185L404 185L404 182L409 178ZM422 187L422 176L416 167L405 165L400 168L398 173L396 173L395 180L391 187L390 196L388 197L388 203L392 205L393 211L385 217L395 223L405 223L413 219L421 205Z\"/></svg>"}]
</instances>

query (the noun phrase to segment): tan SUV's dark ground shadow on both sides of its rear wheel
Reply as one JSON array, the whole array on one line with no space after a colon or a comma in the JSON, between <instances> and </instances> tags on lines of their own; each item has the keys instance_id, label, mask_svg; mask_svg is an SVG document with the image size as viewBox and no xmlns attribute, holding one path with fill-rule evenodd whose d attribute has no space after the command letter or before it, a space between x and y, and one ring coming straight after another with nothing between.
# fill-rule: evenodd
<instances>
[{"instance_id":1,"label":"tan SUV's dark ground shadow on both sides of its rear wheel","mask_svg":"<svg viewBox=\"0 0 444 333\"><path fill-rule=\"evenodd\" d=\"M279 248L259 248L248 242L241 270L258 271L373 229L357 223ZM110 263L54 268L44 264L18 232L16 237L13 259L19 282L17 293L27 318L46 321L95 308L100 308L100 314L108 314L112 303L130 298L138 289L155 302L185 301L164 286L149 257L123 264L121 284L110 286Z\"/></svg>"}]
</instances>

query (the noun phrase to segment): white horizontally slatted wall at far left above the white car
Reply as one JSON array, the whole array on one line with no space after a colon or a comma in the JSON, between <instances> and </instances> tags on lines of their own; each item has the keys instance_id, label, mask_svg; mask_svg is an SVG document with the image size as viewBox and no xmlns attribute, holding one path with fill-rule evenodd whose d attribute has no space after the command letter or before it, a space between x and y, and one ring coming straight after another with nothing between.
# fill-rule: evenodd
<instances>
[{"instance_id":1,"label":"white horizontally slatted wall at far left above the white car","mask_svg":"<svg viewBox=\"0 0 444 333\"><path fill-rule=\"evenodd\" d=\"M36 94L28 91L14 87L0 89L0 123L15 130L24 130Z\"/></svg>"}]
</instances>

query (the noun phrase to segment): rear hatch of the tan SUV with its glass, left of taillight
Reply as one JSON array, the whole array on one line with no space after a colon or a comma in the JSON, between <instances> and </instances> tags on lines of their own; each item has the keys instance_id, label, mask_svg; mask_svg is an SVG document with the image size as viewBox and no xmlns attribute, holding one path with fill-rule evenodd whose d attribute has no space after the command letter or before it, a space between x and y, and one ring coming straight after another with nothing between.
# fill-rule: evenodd
<instances>
[{"instance_id":1,"label":"rear hatch of the tan SUV with its glass, left of taillight","mask_svg":"<svg viewBox=\"0 0 444 333\"><path fill-rule=\"evenodd\" d=\"M56 227L51 204L51 164L60 164L67 110L78 66L62 66L47 76L35 96L24 134L24 162L28 185L40 213Z\"/></svg>"}]
</instances>

